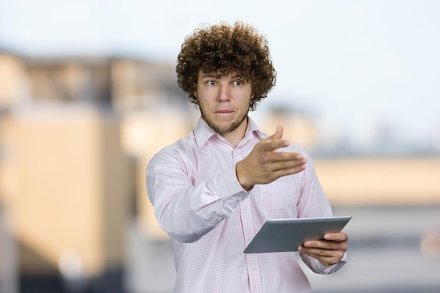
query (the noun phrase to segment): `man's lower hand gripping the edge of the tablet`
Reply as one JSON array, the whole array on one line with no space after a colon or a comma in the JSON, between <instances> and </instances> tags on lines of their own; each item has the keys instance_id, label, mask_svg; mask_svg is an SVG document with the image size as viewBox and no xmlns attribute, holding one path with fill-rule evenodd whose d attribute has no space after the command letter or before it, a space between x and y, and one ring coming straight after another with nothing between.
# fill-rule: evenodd
<instances>
[{"instance_id":1,"label":"man's lower hand gripping the edge of the tablet","mask_svg":"<svg viewBox=\"0 0 440 293\"><path fill-rule=\"evenodd\" d=\"M318 259L325 266L338 263L348 249L349 237L343 232L328 233L325 240L309 240L298 251Z\"/></svg>"}]
</instances>

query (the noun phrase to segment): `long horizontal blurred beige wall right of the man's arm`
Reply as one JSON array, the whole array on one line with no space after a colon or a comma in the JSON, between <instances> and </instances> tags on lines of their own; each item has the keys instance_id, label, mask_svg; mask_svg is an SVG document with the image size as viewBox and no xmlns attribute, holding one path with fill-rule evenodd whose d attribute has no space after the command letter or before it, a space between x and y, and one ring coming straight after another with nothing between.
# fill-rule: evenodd
<instances>
[{"instance_id":1,"label":"long horizontal blurred beige wall right of the man's arm","mask_svg":"<svg viewBox=\"0 0 440 293\"><path fill-rule=\"evenodd\" d=\"M440 204L440 157L316 159L315 168L332 204Z\"/></svg>"}]
</instances>

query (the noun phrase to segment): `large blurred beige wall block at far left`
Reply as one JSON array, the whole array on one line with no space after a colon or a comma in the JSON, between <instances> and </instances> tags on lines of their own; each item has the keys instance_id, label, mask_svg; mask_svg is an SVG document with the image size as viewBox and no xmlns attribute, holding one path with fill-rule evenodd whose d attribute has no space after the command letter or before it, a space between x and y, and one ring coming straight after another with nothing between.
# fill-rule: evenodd
<instances>
[{"instance_id":1,"label":"large blurred beige wall block at far left","mask_svg":"<svg viewBox=\"0 0 440 293\"><path fill-rule=\"evenodd\" d=\"M134 169L117 119L62 107L1 124L0 196L20 242L20 271L53 274L75 265L93 276L123 266Z\"/></svg>"}]
</instances>

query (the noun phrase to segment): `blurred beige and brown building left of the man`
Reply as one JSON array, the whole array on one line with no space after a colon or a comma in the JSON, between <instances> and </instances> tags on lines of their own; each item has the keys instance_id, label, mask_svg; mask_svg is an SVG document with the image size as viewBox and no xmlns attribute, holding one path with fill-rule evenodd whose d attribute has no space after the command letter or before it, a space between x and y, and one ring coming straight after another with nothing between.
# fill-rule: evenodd
<instances>
[{"instance_id":1,"label":"blurred beige and brown building left of the man","mask_svg":"<svg viewBox=\"0 0 440 293\"><path fill-rule=\"evenodd\" d=\"M17 254L4 257L2 237L0 268L19 292L128 291L127 226L145 201L137 169L157 136L191 122L179 93L167 65L0 53L0 205ZM171 103L180 115L164 112Z\"/></svg>"}]
</instances>

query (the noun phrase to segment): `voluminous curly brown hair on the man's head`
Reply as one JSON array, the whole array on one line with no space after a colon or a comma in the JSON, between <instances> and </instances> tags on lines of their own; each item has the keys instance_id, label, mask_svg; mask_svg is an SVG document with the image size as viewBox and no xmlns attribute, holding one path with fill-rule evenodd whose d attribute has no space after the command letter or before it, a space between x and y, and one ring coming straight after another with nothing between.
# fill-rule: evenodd
<instances>
[{"instance_id":1,"label":"voluminous curly brown hair on the man's head","mask_svg":"<svg viewBox=\"0 0 440 293\"><path fill-rule=\"evenodd\" d=\"M177 58L177 84L188 93L191 103L198 106L195 89L200 70L226 75L238 72L252 82L250 110L266 98L275 86L276 71L272 65L268 41L251 25L221 22L211 27L198 27L186 37Z\"/></svg>"}]
</instances>

